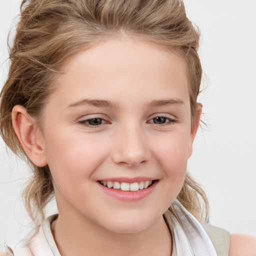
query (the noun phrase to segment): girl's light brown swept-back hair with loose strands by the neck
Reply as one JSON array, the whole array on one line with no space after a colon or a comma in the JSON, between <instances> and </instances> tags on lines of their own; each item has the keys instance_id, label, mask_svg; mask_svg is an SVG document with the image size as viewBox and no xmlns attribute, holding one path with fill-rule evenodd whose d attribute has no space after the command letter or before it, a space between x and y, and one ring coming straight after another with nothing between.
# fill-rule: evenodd
<instances>
[{"instance_id":1,"label":"girl's light brown swept-back hair with loose strands by the neck","mask_svg":"<svg viewBox=\"0 0 256 256\"><path fill-rule=\"evenodd\" d=\"M44 206L54 195L50 170L48 165L34 165L25 154L13 130L12 108L17 104L24 106L40 123L46 100L55 88L54 77L61 73L64 61L99 41L124 35L156 43L185 61L193 125L202 75L197 53L199 32L186 17L182 1L23 0L21 3L20 19L9 46L9 72L0 94L0 133L6 145L33 170L22 196L37 224L44 219ZM177 199L196 218L207 221L206 195L189 173ZM169 209L173 210L171 206Z\"/></svg>"}]
</instances>

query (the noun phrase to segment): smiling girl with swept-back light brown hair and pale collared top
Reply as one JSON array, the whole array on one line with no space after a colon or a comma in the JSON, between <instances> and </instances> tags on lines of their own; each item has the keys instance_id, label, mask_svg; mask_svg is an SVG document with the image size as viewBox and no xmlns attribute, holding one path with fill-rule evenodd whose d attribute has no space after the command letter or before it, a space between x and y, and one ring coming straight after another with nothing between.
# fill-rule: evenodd
<instances>
[{"instance_id":1,"label":"smiling girl with swept-back light brown hair and pale collared top","mask_svg":"<svg viewBox=\"0 0 256 256\"><path fill-rule=\"evenodd\" d=\"M256 253L253 238L203 224L207 199L186 173L198 39L178 0L22 2L0 131L33 169L23 196L40 227L7 255Z\"/></svg>"}]
</instances>

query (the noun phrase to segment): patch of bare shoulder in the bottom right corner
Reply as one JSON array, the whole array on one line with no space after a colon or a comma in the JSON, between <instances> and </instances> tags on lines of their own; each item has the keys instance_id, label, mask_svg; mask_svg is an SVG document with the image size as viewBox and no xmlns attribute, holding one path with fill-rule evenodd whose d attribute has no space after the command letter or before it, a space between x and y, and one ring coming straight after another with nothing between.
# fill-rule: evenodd
<instances>
[{"instance_id":1,"label":"patch of bare shoulder in the bottom right corner","mask_svg":"<svg viewBox=\"0 0 256 256\"><path fill-rule=\"evenodd\" d=\"M256 238L244 234L231 234L228 256L256 256Z\"/></svg>"}]
</instances>

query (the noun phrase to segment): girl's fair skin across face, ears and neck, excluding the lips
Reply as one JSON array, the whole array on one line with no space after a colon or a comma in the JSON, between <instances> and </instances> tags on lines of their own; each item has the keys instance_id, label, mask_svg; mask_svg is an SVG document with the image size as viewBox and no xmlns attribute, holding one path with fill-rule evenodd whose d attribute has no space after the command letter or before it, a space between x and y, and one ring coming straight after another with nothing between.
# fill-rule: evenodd
<instances>
[{"instance_id":1,"label":"girl's fair skin across face, ears and neck, excluding the lips","mask_svg":"<svg viewBox=\"0 0 256 256\"><path fill-rule=\"evenodd\" d=\"M170 255L162 214L182 187L201 113L198 104L191 125L184 62L125 38L80 51L64 70L41 129L22 106L12 113L29 158L50 168L59 212L51 230L61 255ZM81 103L85 98L115 107ZM166 99L177 102L148 106ZM92 118L104 120L85 126ZM137 176L157 180L138 201L113 198L97 182Z\"/></svg>"}]
</instances>

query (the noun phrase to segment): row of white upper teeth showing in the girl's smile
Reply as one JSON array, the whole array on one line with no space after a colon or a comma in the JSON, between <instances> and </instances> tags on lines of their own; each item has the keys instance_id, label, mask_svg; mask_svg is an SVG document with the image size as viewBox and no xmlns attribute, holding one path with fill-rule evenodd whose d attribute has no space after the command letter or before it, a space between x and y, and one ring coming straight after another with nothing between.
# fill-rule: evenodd
<instances>
[{"instance_id":1,"label":"row of white upper teeth showing in the girl's smile","mask_svg":"<svg viewBox=\"0 0 256 256\"><path fill-rule=\"evenodd\" d=\"M147 188L149 185L152 184L152 180L147 181L139 181L139 182L118 182L118 181L106 181L106 180L100 180L100 183L104 186L107 186L108 188L114 188L114 189L121 189L123 191L137 191L138 189Z\"/></svg>"}]
</instances>

